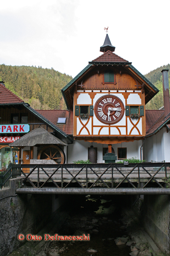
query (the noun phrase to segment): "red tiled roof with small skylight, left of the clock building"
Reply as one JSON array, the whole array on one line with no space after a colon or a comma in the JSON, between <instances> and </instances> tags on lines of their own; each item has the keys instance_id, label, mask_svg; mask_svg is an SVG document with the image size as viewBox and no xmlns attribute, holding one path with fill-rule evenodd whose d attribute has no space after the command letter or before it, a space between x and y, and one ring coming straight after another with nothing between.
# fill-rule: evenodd
<instances>
[{"instance_id":1,"label":"red tiled roof with small skylight, left of the clock building","mask_svg":"<svg viewBox=\"0 0 170 256\"><path fill-rule=\"evenodd\" d=\"M36 110L68 135L73 135L73 111L69 110ZM58 117L66 117L66 124L57 124Z\"/></svg>"}]
</instances>

